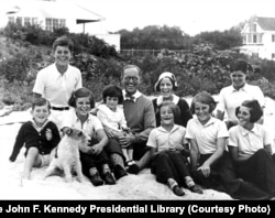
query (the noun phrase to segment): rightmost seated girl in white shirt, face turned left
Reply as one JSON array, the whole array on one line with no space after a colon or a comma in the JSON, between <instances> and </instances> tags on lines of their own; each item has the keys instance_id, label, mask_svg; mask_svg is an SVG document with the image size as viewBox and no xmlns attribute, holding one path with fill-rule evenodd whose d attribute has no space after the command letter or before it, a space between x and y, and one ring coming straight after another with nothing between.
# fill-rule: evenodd
<instances>
[{"instance_id":1,"label":"rightmost seated girl in white shirt, face turned left","mask_svg":"<svg viewBox=\"0 0 275 218\"><path fill-rule=\"evenodd\" d=\"M238 176L255 184L275 197L275 154L272 135L265 127L255 123L263 111L256 100L246 100L237 108L239 124L229 130L229 152Z\"/></svg>"}]
</instances>

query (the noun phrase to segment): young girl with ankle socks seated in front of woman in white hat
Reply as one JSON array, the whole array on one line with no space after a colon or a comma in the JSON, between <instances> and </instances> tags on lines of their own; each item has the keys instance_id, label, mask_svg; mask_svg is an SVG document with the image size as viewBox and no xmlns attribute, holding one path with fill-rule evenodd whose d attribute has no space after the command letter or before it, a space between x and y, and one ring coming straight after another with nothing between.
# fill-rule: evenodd
<instances>
[{"instance_id":1,"label":"young girl with ankle socks seated in front of woman in white hat","mask_svg":"<svg viewBox=\"0 0 275 218\"><path fill-rule=\"evenodd\" d=\"M185 195L179 188L180 184L186 184L194 193L202 194L188 170L186 130L174 123L174 117L178 112L178 107L173 102L165 101L160 105L161 127L152 130L147 141L152 154L151 171L156 174L157 182L168 184L177 196Z\"/></svg>"}]
</instances>

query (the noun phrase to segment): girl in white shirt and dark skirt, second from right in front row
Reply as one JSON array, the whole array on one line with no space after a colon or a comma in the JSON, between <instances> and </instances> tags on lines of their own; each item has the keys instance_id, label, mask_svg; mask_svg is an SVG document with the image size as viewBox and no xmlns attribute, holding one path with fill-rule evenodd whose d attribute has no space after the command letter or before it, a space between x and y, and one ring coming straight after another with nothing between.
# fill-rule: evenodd
<instances>
[{"instance_id":1,"label":"girl in white shirt and dark skirt, second from right in front row","mask_svg":"<svg viewBox=\"0 0 275 218\"><path fill-rule=\"evenodd\" d=\"M229 132L223 121L212 117L217 102L206 91L193 98L186 139L190 141L191 174L206 188L226 192L237 199L265 199L266 194L237 177L232 160L226 150Z\"/></svg>"}]
</instances>

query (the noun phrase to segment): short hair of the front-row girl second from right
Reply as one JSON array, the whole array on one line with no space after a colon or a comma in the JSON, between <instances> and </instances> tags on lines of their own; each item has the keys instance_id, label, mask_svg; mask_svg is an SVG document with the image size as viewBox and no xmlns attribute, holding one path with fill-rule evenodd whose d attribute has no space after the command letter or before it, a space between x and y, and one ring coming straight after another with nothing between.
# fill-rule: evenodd
<instances>
[{"instance_id":1,"label":"short hair of the front-row girl second from right","mask_svg":"<svg viewBox=\"0 0 275 218\"><path fill-rule=\"evenodd\" d=\"M215 110L215 108L217 106L217 101L215 101L213 97L210 94L208 94L207 91L201 91L193 98L191 106L190 106L190 111L193 115L195 113L195 103L196 102L208 105L210 107L210 109L209 109L210 113Z\"/></svg>"}]
</instances>

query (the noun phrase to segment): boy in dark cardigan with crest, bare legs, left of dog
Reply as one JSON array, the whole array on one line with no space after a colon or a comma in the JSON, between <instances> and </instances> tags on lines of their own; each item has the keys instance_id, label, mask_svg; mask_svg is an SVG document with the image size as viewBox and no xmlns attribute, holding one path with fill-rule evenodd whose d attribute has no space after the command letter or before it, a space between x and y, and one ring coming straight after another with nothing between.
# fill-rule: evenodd
<instances>
[{"instance_id":1,"label":"boy in dark cardigan with crest, bare legs, left of dog","mask_svg":"<svg viewBox=\"0 0 275 218\"><path fill-rule=\"evenodd\" d=\"M14 162L23 145L25 145L25 163L22 178L30 179L32 167L43 167L50 164L50 153L61 141L59 131L48 121L50 102L37 98L32 103L33 119L25 122L19 130L10 161Z\"/></svg>"}]
</instances>

